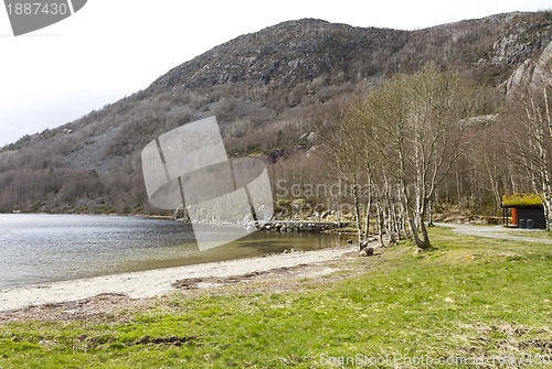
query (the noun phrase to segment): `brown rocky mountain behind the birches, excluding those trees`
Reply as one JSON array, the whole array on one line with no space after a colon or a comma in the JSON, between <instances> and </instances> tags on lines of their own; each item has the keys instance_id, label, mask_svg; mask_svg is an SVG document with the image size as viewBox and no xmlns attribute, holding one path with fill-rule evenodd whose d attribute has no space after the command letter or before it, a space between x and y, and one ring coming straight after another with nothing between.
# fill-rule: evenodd
<instances>
[{"instance_id":1,"label":"brown rocky mountain behind the birches, excluding those trees","mask_svg":"<svg viewBox=\"0 0 552 369\"><path fill-rule=\"evenodd\" d=\"M149 213L141 149L185 122L214 115L229 152L300 160L314 144L306 139L312 120L336 100L427 64L455 67L501 99L531 78L519 76L534 72L528 61L551 40L551 12L416 31L314 19L269 26L174 67L132 96L4 146L0 211Z\"/></svg>"}]
</instances>

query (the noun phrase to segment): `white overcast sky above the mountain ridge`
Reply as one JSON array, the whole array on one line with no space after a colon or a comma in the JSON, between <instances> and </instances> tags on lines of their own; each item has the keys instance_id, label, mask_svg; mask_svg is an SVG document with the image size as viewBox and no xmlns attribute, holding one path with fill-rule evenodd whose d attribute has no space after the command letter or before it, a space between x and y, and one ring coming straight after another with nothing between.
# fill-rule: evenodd
<instances>
[{"instance_id":1,"label":"white overcast sky above the mountain ridge","mask_svg":"<svg viewBox=\"0 0 552 369\"><path fill-rule=\"evenodd\" d=\"M73 17L14 37L0 7L0 146L115 102L217 44L283 21L413 30L551 8L551 0L88 0Z\"/></svg>"}]
</instances>

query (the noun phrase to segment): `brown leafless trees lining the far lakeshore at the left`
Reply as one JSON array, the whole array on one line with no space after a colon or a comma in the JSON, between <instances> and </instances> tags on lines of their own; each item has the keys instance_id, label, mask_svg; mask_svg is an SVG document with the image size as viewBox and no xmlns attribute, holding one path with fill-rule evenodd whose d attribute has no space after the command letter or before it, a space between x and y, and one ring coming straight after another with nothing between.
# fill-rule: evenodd
<instances>
[{"instance_id":1,"label":"brown leafless trees lining the far lakeshore at the left","mask_svg":"<svg viewBox=\"0 0 552 369\"><path fill-rule=\"evenodd\" d=\"M0 173L0 213L149 213L141 172L84 169Z\"/></svg>"}]
</instances>

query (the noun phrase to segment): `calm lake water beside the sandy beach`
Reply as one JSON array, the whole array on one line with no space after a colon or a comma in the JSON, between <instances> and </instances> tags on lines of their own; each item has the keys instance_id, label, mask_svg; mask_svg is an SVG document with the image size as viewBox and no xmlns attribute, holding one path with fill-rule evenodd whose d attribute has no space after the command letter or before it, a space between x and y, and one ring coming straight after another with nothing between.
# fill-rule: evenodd
<instances>
[{"instance_id":1,"label":"calm lake water beside the sandy beach","mask_svg":"<svg viewBox=\"0 0 552 369\"><path fill-rule=\"evenodd\" d=\"M139 217L0 215L0 289L336 246L337 236L254 232L200 251L190 225Z\"/></svg>"}]
</instances>

